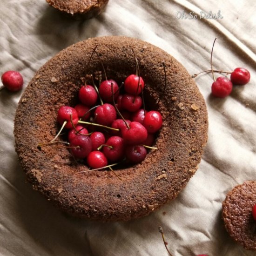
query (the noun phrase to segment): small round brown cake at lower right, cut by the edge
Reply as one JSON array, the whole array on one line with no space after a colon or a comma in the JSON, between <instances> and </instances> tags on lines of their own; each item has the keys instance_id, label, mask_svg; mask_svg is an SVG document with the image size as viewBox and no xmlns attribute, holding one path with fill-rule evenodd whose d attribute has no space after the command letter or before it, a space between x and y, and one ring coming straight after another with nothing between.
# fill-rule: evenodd
<instances>
[{"instance_id":1,"label":"small round brown cake at lower right, cut by the edge","mask_svg":"<svg viewBox=\"0 0 256 256\"><path fill-rule=\"evenodd\" d=\"M256 181L247 181L229 191L222 203L222 218L229 235L245 249L256 250Z\"/></svg>"}]
</instances>

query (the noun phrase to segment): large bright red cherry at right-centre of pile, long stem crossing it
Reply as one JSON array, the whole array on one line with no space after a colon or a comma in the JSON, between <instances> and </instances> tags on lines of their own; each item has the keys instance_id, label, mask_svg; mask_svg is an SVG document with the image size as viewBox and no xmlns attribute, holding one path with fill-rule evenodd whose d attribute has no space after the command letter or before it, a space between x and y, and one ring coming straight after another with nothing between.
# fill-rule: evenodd
<instances>
[{"instance_id":1,"label":"large bright red cherry at right-centre of pile, long stem crossing it","mask_svg":"<svg viewBox=\"0 0 256 256\"><path fill-rule=\"evenodd\" d=\"M131 122L127 127L121 128L121 134L124 142L129 145L140 144L148 137L146 128L139 122Z\"/></svg>"}]
</instances>

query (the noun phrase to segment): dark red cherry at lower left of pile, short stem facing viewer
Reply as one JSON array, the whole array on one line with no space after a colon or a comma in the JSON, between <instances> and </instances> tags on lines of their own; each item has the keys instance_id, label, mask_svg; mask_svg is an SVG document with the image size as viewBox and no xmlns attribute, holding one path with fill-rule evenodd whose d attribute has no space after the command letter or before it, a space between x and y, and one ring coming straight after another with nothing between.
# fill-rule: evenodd
<instances>
[{"instance_id":1,"label":"dark red cherry at lower left of pile, short stem facing viewer","mask_svg":"<svg viewBox=\"0 0 256 256\"><path fill-rule=\"evenodd\" d=\"M92 151L92 141L89 136L78 135L70 142L71 152L75 158L85 158Z\"/></svg>"}]
</instances>

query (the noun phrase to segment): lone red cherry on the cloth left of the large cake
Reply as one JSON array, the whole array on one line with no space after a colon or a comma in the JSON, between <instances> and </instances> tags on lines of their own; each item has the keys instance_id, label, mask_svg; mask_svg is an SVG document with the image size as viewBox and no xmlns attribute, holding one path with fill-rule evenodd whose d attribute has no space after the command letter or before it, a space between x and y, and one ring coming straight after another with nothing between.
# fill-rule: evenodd
<instances>
[{"instance_id":1,"label":"lone red cherry on the cloth left of the large cake","mask_svg":"<svg viewBox=\"0 0 256 256\"><path fill-rule=\"evenodd\" d=\"M2 74L1 80L3 86L11 92L19 91L23 87L22 75L17 71L10 70L5 72Z\"/></svg>"}]
</instances>

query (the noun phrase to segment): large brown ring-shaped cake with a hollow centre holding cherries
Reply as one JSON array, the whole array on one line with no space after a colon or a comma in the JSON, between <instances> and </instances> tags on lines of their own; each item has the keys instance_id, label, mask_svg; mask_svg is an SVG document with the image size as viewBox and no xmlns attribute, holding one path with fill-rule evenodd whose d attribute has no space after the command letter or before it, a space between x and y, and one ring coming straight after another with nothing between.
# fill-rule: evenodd
<instances>
[{"instance_id":1,"label":"large brown ring-shaped cake with a hollow centre holding cherries","mask_svg":"<svg viewBox=\"0 0 256 256\"><path fill-rule=\"evenodd\" d=\"M75 164L66 148L49 145L59 130L56 117L62 105L78 101L93 48L104 63L108 78L119 84L135 73L134 49L146 87L148 108L159 110L163 126L146 159L134 166L109 171L87 170ZM167 87L162 94L167 72ZM101 72L96 55L87 74ZM198 88L172 56L147 42L127 37L100 37L61 51L35 74L22 95L15 116L16 151L27 179L49 200L72 215L101 221L127 221L146 216L174 199L185 187L201 160L207 141L208 115ZM57 163L72 161L71 164Z\"/></svg>"}]
</instances>

